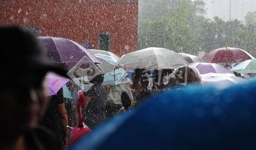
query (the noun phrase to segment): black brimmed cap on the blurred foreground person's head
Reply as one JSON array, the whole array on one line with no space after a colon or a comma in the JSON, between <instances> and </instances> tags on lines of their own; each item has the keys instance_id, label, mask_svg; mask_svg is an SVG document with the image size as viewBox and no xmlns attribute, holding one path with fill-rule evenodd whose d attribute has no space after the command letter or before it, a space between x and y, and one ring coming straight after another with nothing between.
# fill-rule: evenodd
<instances>
[{"instance_id":1,"label":"black brimmed cap on the blurred foreground person's head","mask_svg":"<svg viewBox=\"0 0 256 150\"><path fill-rule=\"evenodd\" d=\"M48 61L41 43L29 31L16 26L1 27L0 42L0 77L5 84L0 87L36 87L49 71L67 77L65 69Z\"/></svg>"}]
</instances>

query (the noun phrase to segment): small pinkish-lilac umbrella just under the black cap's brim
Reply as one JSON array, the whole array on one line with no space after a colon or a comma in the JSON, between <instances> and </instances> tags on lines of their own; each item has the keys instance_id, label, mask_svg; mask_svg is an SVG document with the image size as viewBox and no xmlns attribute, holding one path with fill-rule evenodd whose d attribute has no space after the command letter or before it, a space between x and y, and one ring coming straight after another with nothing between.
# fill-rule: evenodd
<instances>
[{"instance_id":1,"label":"small pinkish-lilac umbrella just under the black cap's brim","mask_svg":"<svg viewBox=\"0 0 256 150\"><path fill-rule=\"evenodd\" d=\"M46 82L49 89L48 96L56 95L57 92L65 85L70 79L59 76L53 72L47 73Z\"/></svg>"}]
</instances>

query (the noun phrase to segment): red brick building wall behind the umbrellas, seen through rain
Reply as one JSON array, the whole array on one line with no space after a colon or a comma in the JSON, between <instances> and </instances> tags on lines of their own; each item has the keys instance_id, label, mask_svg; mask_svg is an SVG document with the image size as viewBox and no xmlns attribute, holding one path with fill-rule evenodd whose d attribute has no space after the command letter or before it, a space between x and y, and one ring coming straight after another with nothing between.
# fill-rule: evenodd
<instances>
[{"instance_id":1,"label":"red brick building wall behind the umbrellas, seen through rain","mask_svg":"<svg viewBox=\"0 0 256 150\"><path fill-rule=\"evenodd\" d=\"M137 50L138 1L0 1L0 24L38 26L41 36L64 37L98 49L98 34L110 33L111 51Z\"/></svg>"}]
</instances>

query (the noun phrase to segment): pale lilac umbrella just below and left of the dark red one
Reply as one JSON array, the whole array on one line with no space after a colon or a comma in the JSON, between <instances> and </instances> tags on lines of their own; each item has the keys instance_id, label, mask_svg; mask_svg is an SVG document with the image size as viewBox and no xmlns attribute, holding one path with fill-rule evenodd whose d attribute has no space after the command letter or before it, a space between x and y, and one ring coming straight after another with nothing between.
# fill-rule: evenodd
<instances>
[{"instance_id":1,"label":"pale lilac umbrella just below and left of the dark red one","mask_svg":"<svg viewBox=\"0 0 256 150\"><path fill-rule=\"evenodd\" d=\"M195 62L195 63L190 63L189 66L196 67L200 72L200 74L230 73L225 67L218 65L216 63Z\"/></svg>"}]
</instances>

